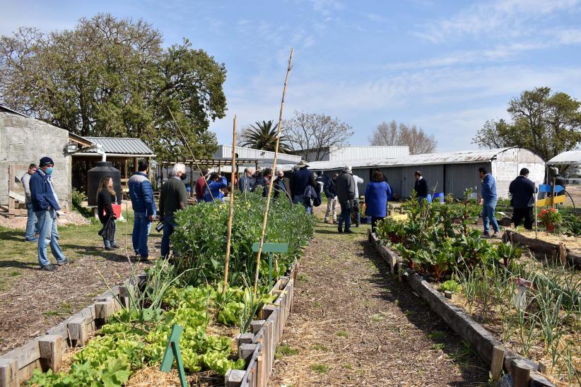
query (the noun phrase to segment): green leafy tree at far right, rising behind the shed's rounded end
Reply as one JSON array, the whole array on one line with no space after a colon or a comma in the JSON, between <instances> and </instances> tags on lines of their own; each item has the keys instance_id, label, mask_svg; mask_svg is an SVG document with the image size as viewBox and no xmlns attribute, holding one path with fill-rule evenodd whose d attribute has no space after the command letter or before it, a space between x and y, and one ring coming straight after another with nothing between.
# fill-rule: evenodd
<instances>
[{"instance_id":1,"label":"green leafy tree at far right, rising behind the shed's rounded end","mask_svg":"<svg viewBox=\"0 0 581 387\"><path fill-rule=\"evenodd\" d=\"M486 121L473 139L481 148L522 146L545 160L581 143L581 103L551 88L524 91L508 104L510 121Z\"/></svg>"}]
</instances>

